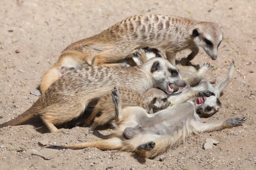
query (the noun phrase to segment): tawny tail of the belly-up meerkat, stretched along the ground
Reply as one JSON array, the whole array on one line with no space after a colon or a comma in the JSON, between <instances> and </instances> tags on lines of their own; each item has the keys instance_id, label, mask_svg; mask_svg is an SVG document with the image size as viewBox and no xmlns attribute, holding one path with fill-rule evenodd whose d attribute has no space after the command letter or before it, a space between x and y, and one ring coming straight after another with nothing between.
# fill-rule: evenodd
<instances>
[{"instance_id":1,"label":"tawny tail of the belly-up meerkat, stretched along the ground","mask_svg":"<svg viewBox=\"0 0 256 170\"><path fill-rule=\"evenodd\" d=\"M96 147L101 150L119 150L122 148L122 140L117 138L117 137L112 137L110 139L104 139L100 141L94 141L94 142L85 142L85 143L80 143L80 144L72 144L72 145L67 145L67 146L49 146L47 148L51 149L73 149L73 150L78 150L78 149L84 149L87 147Z\"/></svg>"}]
</instances>

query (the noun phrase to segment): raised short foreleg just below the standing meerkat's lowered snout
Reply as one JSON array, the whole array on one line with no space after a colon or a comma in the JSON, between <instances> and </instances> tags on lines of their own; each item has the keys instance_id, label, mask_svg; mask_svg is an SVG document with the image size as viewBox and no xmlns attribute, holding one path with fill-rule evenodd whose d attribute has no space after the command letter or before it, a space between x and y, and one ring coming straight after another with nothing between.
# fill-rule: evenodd
<instances>
[{"instance_id":1,"label":"raised short foreleg just below the standing meerkat's lowered snout","mask_svg":"<svg viewBox=\"0 0 256 170\"><path fill-rule=\"evenodd\" d=\"M202 67L196 72L196 74L192 77L187 77L184 80L189 83L189 85L195 85L199 81L201 81L204 78L204 74L206 74L207 70L210 67L210 63L204 63Z\"/></svg>"}]
</instances>

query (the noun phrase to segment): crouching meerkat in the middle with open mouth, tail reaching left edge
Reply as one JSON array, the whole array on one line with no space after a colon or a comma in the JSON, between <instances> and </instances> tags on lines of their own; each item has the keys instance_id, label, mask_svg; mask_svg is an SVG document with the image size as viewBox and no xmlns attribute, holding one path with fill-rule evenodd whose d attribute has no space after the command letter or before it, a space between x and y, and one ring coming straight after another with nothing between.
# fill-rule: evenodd
<instances>
[{"instance_id":1,"label":"crouching meerkat in the middle with open mouth, tail reaching left edge","mask_svg":"<svg viewBox=\"0 0 256 170\"><path fill-rule=\"evenodd\" d=\"M85 67L64 74L31 108L0 127L20 125L39 114L50 132L63 132L55 125L78 118L90 102L99 100L113 87L126 87L139 93L159 88L171 94L172 84L183 87L186 82L174 65L160 57L136 67Z\"/></svg>"}]
</instances>

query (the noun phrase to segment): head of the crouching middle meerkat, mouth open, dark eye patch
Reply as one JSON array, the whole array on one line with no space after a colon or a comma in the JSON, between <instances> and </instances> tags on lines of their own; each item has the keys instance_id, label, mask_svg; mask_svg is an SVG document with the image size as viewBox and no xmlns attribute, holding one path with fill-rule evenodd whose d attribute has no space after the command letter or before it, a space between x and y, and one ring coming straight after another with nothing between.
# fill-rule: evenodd
<instances>
[{"instance_id":1,"label":"head of the crouching middle meerkat, mouth open, dark eye patch","mask_svg":"<svg viewBox=\"0 0 256 170\"><path fill-rule=\"evenodd\" d=\"M179 70L172 65L167 59L154 57L148 60L142 67L150 69L153 79L153 87L159 88L167 94L172 94L174 89L171 85L184 87L186 82L182 79Z\"/></svg>"}]
</instances>

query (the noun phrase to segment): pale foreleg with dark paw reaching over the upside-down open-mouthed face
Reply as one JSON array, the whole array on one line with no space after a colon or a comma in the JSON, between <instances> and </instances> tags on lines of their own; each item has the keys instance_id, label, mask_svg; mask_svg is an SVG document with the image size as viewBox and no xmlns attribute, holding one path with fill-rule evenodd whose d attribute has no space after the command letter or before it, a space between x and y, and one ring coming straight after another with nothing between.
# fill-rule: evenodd
<instances>
[{"instance_id":1,"label":"pale foreleg with dark paw reaching over the upside-down open-mouthed face","mask_svg":"<svg viewBox=\"0 0 256 170\"><path fill-rule=\"evenodd\" d=\"M177 96L171 96L168 98L168 100L175 105L184 103L188 101L189 99L193 99L195 97L209 97L209 96L215 96L215 94L211 91L190 91L188 93L180 94Z\"/></svg>"}]
</instances>

